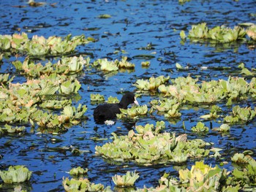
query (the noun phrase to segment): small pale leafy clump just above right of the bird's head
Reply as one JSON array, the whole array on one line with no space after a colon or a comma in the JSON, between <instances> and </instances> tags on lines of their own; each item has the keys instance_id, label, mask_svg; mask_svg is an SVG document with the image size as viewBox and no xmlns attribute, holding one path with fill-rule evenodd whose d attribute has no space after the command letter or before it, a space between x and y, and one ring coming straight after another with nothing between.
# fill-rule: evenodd
<instances>
[{"instance_id":1,"label":"small pale leafy clump just above right of the bird's head","mask_svg":"<svg viewBox=\"0 0 256 192\"><path fill-rule=\"evenodd\" d=\"M169 76L165 77L161 75L159 77L150 77L148 80L137 80L134 85L142 91L156 91L160 85L164 84L169 79Z\"/></svg>"}]
</instances>

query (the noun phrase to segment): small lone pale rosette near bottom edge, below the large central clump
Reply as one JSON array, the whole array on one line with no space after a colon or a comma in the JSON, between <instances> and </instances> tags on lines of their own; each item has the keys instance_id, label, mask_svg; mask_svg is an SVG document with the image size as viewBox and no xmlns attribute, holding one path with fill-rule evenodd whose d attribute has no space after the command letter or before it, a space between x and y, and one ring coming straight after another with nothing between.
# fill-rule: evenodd
<instances>
[{"instance_id":1,"label":"small lone pale rosette near bottom edge, below the large central clump","mask_svg":"<svg viewBox=\"0 0 256 192\"><path fill-rule=\"evenodd\" d=\"M138 180L139 174L135 172L127 172L124 175L118 175L115 174L115 176L112 177L113 183L115 185L120 187L129 187L133 186L135 184L135 181Z\"/></svg>"}]
</instances>

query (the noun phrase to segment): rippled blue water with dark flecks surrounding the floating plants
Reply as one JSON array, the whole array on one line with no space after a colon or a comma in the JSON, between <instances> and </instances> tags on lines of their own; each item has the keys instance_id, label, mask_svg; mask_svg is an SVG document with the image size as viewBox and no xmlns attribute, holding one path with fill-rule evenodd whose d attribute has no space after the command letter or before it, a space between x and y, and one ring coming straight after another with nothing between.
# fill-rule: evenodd
<instances>
[{"instance_id":1,"label":"rippled blue water with dark flecks surrounding the floating plants","mask_svg":"<svg viewBox=\"0 0 256 192\"><path fill-rule=\"evenodd\" d=\"M133 91L137 79L153 75L169 75L171 78L200 77L200 80L218 80L232 76L240 76L238 64L244 62L249 69L255 68L255 49L249 49L246 44L232 43L226 45L192 44L189 41L181 45L179 32L188 31L192 24L206 22L209 27L226 25L233 28L238 23L256 23L256 1L197 1L191 0L186 4L173 1L45 1L42 7L29 7L26 1L0 0L0 34L13 34L25 31L29 37L42 35L44 37L67 36L67 34L94 37L97 42L78 47L78 54L89 55L91 61L97 58L121 59L126 55L129 61L135 64L135 72L118 72L107 77L102 72L92 69L85 71L79 78L82 88L79 91L81 99L74 102L86 104L88 120L81 125L73 126L61 135L35 134L34 130L27 128L27 133L22 136L1 136L0 159L1 169L7 166L23 164L33 171L29 184L31 191L63 191L62 177L69 177L69 169L82 166L89 169L89 180L93 183L111 185L114 174L123 174L128 170L137 170L140 179L136 187L143 188L156 186L164 172L177 175L173 165L138 166L133 163L115 164L104 161L94 156L94 147L110 141L110 134L127 134L134 124L118 120L114 126L97 125L94 123L92 111L95 105L90 103L91 93L100 93L105 96L117 96L121 99L120 91ZM56 3L56 4L54 4ZM22 7L26 6L26 7ZM99 15L109 14L111 18L100 19ZM148 46L151 45L151 46ZM118 53L114 53L115 51ZM125 50L127 53L121 53ZM141 55L151 55L146 58ZM22 59L22 58L21 58ZM143 69L141 61L150 61L151 66ZM10 64L15 57L4 59L1 72L15 73ZM176 62L182 66L189 66L188 71L176 70ZM207 66L203 70L201 66ZM211 67L227 66L231 69L214 70ZM14 82L22 82L23 77L16 77ZM138 99L140 104L148 104L159 96L145 94ZM255 107L255 100L243 101ZM149 104L148 104L149 106ZM231 108L225 103L219 104L227 112ZM175 131L177 134L187 133L189 139L198 137L192 134L190 128L200 120L200 115L208 112L206 107L186 106L181 110L181 119L176 123L168 122L162 115L140 118L137 125L155 123L165 120L166 130ZM183 121L187 131L183 129ZM206 121L206 126L219 126L215 121ZM230 162L230 155L244 150L256 152L256 123L255 120L246 125L232 126L230 134L221 136L214 131L206 136L200 136L207 142L214 142L214 147L222 148L222 157ZM97 141L98 137L106 139ZM53 142L52 139L61 139ZM88 150L83 155L74 155L64 147L79 147ZM214 158L206 158L207 164L219 164ZM194 164L189 160L187 166ZM128 165L126 168L125 166ZM233 169L229 163L226 169ZM13 186L7 186L12 189Z\"/></svg>"}]
</instances>

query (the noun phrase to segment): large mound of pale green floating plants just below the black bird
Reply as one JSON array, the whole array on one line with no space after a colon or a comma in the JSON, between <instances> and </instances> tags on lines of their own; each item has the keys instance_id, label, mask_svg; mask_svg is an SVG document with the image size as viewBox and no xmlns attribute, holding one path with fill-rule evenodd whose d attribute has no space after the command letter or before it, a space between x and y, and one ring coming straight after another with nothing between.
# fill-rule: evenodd
<instances>
[{"instance_id":1,"label":"large mound of pale green floating plants just below the black bird","mask_svg":"<svg viewBox=\"0 0 256 192\"><path fill-rule=\"evenodd\" d=\"M170 133L158 134L164 125L157 123L157 126L160 127L136 126L139 133L129 131L127 136L118 137L113 133L113 142L96 146L96 154L114 161L135 161L144 165L183 163L189 157L201 158L209 154L209 150L204 149L207 143L203 140L188 141L186 134L178 137Z\"/></svg>"}]
</instances>

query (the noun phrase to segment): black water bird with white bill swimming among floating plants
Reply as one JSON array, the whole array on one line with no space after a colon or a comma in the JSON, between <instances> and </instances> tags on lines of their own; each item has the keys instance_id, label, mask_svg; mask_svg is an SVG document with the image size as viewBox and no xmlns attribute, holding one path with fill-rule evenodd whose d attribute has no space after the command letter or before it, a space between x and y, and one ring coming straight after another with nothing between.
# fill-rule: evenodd
<instances>
[{"instance_id":1,"label":"black water bird with white bill swimming among floating plants","mask_svg":"<svg viewBox=\"0 0 256 192\"><path fill-rule=\"evenodd\" d=\"M112 120L117 113L121 113L120 109L127 109L129 104L139 105L132 92L125 93L118 104L99 104L94 110L94 120L97 123Z\"/></svg>"}]
</instances>

